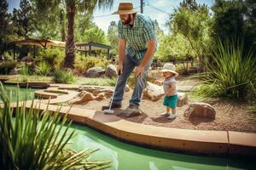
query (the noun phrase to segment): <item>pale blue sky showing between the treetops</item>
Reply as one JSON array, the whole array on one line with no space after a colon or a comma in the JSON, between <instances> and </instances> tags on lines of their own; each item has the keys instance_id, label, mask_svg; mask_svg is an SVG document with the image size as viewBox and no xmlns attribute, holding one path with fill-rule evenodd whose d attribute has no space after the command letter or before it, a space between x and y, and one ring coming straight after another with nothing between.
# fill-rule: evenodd
<instances>
[{"instance_id":1,"label":"pale blue sky showing between the treetops","mask_svg":"<svg viewBox=\"0 0 256 170\"><path fill-rule=\"evenodd\" d=\"M160 28L167 32L165 26L166 20L168 20L168 14L172 14L173 9L179 6L179 3L183 0L143 0L143 14L148 15L152 20L157 20ZM7 0L9 3L9 13L13 11L13 8L19 8L20 0ZM96 8L94 12L94 22L99 26L106 34L108 32L108 26L111 21L118 21L119 15L112 14L116 11L119 3L131 2L133 8L140 12L140 0L113 0L113 7L111 9ZM196 0L196 3L205 3L208 7L211 7L214 0Z\"/></svg>"}]
</instances>

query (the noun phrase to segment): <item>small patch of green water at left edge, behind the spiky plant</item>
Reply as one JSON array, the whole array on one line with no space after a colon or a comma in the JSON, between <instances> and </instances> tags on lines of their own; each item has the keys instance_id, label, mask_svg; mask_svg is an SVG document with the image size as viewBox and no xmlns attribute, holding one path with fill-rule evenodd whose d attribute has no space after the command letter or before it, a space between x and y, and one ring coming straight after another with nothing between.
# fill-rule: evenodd
<instances>
[{"instance_id":1,"label":"small patch of green water at left edge, behind the spiky plant","mask_svg":"<svg viewBox=\"0 0 256 170\"><path fill-rule=\"evenodd\" d=\"M4 85L8 92L11 92L11 101L17 101L17 86ZM34 98L34 91L36 88L19 88L19 101L30 100ZM9 94L9 93L8 93ZM0 99L0 102L2 100Z\"/></svg>"}]
</instances>

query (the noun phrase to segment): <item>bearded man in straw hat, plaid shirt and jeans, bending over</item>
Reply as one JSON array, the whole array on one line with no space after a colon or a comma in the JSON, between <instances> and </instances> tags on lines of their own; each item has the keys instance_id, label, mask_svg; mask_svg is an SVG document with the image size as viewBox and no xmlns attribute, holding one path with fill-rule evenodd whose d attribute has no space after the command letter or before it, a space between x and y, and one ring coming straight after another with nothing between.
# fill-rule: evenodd
<instances>
[{"instance_id":1,"label":"bearded man in straw hat, plaid shirt and jeans, bending over","mask_svg":"<svg viewBox=\"0 0 256 170\"><path fill-rule=\"evenodd\" d=\"M119 3L119 80L113 95L111 109L120 108L125 91L125 84L131 72L135 73L135 88L127 109L138 110L143 88L146 86L148 69L156 49L154 22L143 14L133 10L132 3ZM109 105L102 106L102 110Z\"/></svg>"}]
</instances>

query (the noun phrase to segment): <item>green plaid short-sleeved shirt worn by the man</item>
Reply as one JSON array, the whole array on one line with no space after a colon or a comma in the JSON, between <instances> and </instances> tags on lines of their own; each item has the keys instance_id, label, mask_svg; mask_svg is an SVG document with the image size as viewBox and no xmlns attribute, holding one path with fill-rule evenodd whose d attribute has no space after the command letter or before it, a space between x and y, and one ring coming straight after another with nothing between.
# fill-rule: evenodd
<instances>
[{"instance_id":1,"label":"green plaid short-sleeved shirt worn by the man","mask_svg":"<svg viewBox=\"0 0 256 170\"><path fill-rule=\"evenodd\" d=\"M123 25L119 20L119 39L126 42L126 54L143 59L147 51L146 42L155 40L154 22L144 14L135 14L134 25ZM157 44L155 42L155 48Z\"/></svg>"}]
</instances>

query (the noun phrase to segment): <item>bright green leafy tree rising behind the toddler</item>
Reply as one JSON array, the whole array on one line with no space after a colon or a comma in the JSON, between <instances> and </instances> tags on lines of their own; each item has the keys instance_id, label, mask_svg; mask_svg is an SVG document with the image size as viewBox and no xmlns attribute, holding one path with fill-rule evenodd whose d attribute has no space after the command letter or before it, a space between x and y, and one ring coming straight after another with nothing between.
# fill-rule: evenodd
<instances>
[{"instance_id":1,"label":"bright green leafy tree rising behind the toddler","mask_svg":"<svg viewBox=\"0 0 256 170\"><path fill-rule=\"evenodd\" d=\"M199 5L193 0L185 0L180 3L174 14L170 14L166 25L174 34L180 33L189 41L201 67L202 56L208 54L211 42L211 18L207 6Z\"/></svg>"}]
</instances>

